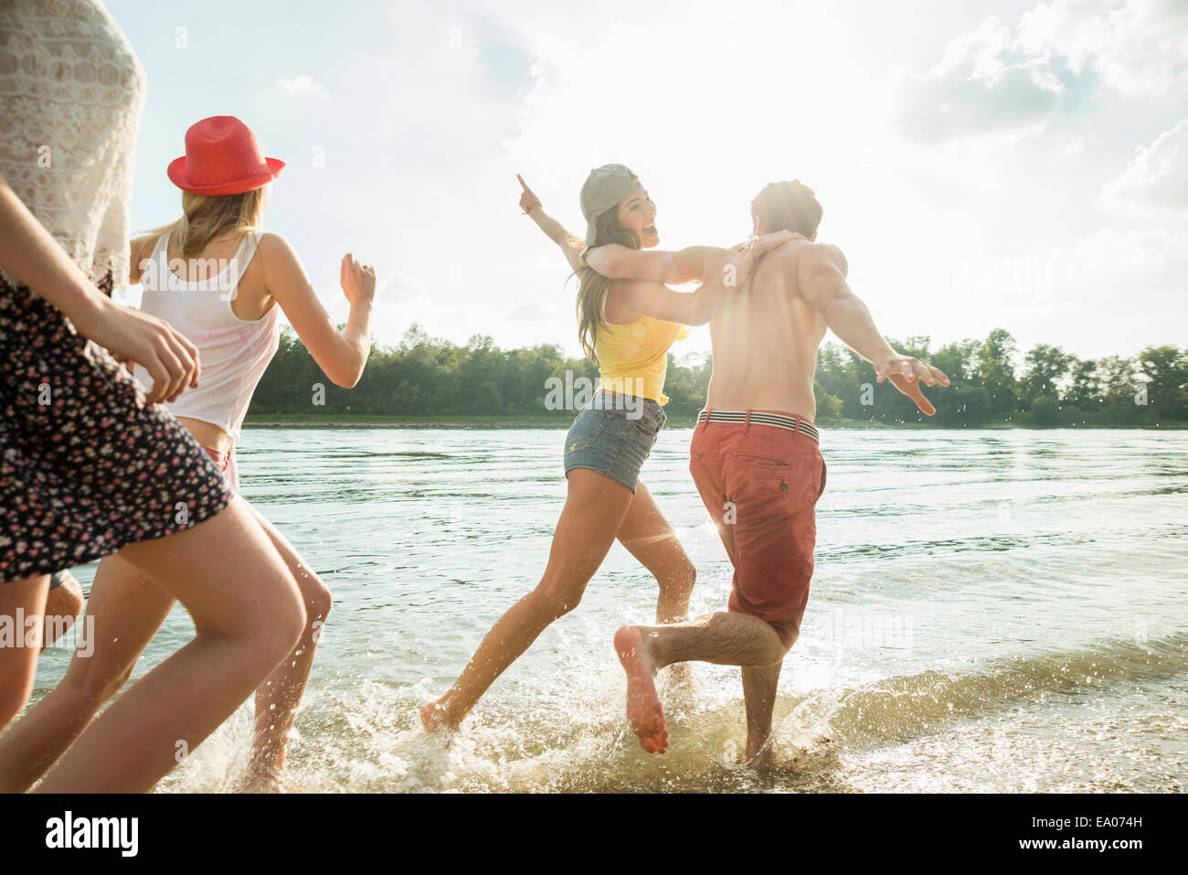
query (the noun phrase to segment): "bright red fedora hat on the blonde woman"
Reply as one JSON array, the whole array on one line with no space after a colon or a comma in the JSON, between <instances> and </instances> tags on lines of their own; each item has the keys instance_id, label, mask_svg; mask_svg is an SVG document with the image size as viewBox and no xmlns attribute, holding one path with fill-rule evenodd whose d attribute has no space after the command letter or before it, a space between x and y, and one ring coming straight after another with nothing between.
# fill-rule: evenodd
<instances>
[{"instance_id":1,"label":"bright red fedora hat on the blonde woman","mask_svg":"<svg viewBox=\"0 0 1188 875\"><path fill-rule=\"evenodd\" d=\"M195 195L238 195L272 182L285 165L265 158L255 134L234 115L213 115L185 132L185 155L169 163L169 178Z\"/></svg>"}]
</instances>

